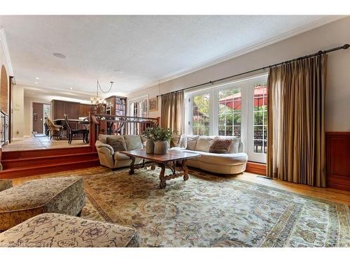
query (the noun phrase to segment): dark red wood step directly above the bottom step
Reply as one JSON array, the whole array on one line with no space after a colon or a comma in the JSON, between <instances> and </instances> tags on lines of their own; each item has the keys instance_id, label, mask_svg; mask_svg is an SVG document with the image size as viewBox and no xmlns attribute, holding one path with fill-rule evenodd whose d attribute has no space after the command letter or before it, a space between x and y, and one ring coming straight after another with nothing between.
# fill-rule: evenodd
<instances>
[{"instance_id":1,"label":"dark red wood step directly above the bottom step","mask_svg":"<svg viewBox=\"0 0 350 262\"><path fill-rule=\"evenodd\" d=\"M57 156L45 156L45 157L26 157L18 159L8 159L2 160L1 164L3 170L9 168L25 168L31 166L42 166L49 164L60 164L60 163L70 163L70 162L79 162L79 161L88 161L98 159L97 153L87 152L80 154L64 154Z\"/></svg>"}]
</instances>

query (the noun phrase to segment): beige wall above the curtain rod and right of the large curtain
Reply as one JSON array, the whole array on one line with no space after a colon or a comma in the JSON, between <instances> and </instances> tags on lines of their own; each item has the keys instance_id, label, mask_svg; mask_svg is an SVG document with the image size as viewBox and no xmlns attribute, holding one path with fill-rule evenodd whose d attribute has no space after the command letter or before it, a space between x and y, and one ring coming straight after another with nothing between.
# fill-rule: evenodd
<instances>
[{"instance_id":1,"label":"beige wall above the curtain rod and right of the large curtain","mask_svg":"<svg viewBox=\"0 0 350 262\"><path fill-rule=\"evenodd\" d=\"M209 80L224 78L251 69L276 64L306 54L350 43L350 17L325 24L303 34L274 43L220 64L163 82L127 95L129 99L148 94L149 98ZM325 130L350 131L350 49L332 52L328 57L328 81L325 99ZM158 112L150 117L160 116Z\"/></svg>"}]
</instances>

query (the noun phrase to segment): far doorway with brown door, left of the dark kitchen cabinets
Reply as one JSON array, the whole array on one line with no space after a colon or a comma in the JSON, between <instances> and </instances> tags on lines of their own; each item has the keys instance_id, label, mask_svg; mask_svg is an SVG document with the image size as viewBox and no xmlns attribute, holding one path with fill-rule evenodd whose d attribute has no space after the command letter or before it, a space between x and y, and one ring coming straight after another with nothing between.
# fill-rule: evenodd
<instances>
[{"instance_id":1,"label":"far doorway with brown door, left of the dark kitchen cabinets","mask_svg":"<svg viewBox=\"0 0 350 262\"><path fill-rule=\"evenodd\" d=\"M33 102L33 134L45 133L45 119L50 117L51 105Z\"/></svg>"}]
</instances>

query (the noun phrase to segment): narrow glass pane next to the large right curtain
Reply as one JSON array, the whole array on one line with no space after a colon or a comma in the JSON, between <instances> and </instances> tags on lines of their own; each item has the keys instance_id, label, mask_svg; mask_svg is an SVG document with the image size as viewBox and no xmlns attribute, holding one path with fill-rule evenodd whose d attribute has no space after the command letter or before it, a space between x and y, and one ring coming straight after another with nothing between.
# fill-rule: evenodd
<instances>
[{"instance_id":1,"label":"narrow glass pane next to the large right curtain","mask_svg":"<svg viewBox=\"0 0 350 262\"><path fill-rule=\"evenodd\" d=\"M266 154L267 147L267 85L253 86L253 152Z\"/></svg>"}]
</instances>

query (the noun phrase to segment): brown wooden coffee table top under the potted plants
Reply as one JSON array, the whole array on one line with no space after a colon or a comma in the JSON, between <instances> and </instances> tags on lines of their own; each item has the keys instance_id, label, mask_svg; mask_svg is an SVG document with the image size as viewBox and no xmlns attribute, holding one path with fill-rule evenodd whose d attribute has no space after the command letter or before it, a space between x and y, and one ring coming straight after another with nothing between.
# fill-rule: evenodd
<instances>
[{"instance_id":1,"label":"brown wooden coffee table top under the potted plants","mask_svg":"<svg viewBox=\"0 0 350 262\"><path fill-rule=\"evenodd\" d=\"M179 151L169 151L168 154L146 154L146 150L130 150L122 151L120 153L126 154L129 157L140 157L142 159L148 159L155 162L169 162L200 157L200 154Z\"/></svg>"}]
</instances>

